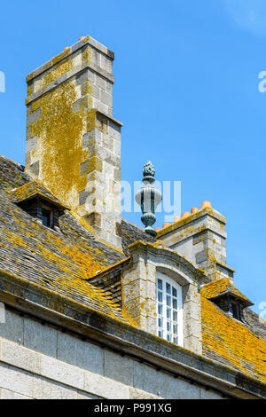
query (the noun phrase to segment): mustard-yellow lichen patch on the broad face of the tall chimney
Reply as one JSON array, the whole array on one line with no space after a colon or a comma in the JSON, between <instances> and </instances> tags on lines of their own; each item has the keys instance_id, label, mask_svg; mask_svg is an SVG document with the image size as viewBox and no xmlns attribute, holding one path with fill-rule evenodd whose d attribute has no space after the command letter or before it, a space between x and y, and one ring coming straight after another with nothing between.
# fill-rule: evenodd
<instances>
[{"instance_id":1,"label":"mustard-yellow lichen patch on the broad face of the tall chimney","mask_svg":"<svg viewBox=\"0 0 266 417\"><path fill-rule=\"evenodd\" d=\"M59 85L33 103L41 108L41 117L31 125L31 135L38 138L32 160L42 161L39 179L71 209L78 206L79 193L87 185L86 173L80 171L88 159L88 150L82 149L86 117L83 108L73 113L76 99L74 82Z\"/></svg>"}]
</instances>

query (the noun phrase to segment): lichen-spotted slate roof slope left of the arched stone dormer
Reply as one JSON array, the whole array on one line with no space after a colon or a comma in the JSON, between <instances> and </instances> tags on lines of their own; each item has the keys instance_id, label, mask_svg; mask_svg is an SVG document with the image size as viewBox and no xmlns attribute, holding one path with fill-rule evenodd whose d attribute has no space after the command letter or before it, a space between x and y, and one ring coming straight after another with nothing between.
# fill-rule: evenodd
<instances>
[{"instance_id":1,"label":"lichen-spotted slate roof slope left of the arched stone dormer","mask_svg":"<svg viewBox=\"0 0 266 417\"><path fill-rule=\"evenodd\" d=\"M121 307L104 292L87 281L98 271L119 263L125 254L99 242L82 219L65 212L59 220L59 232L38 223L15 204L41 193L59 204L43 185L33 181L24 167L0 156L0 272L6 271L28 279L61 295L128 321ZM123 247L145 232L122 222Z\"/></svg>"}]
</instances>

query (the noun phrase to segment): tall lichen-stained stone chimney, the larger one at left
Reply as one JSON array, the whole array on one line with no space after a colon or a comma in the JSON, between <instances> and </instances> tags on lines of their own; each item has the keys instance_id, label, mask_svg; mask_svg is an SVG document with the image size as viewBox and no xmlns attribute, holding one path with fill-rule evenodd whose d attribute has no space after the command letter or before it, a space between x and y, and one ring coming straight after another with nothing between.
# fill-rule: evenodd
<instances>
[{"instance_id":1,"label":"tall lichen-stained stone chimney, the larger one at left","mask_svg":"<svg viewBox=\"0 0 266 417\"><path fill-rule=\"evenodd\" d=\"M26 171L121 248L121 122L113 52L81 38L27 75Z\"/></svg>"}]
</instances>

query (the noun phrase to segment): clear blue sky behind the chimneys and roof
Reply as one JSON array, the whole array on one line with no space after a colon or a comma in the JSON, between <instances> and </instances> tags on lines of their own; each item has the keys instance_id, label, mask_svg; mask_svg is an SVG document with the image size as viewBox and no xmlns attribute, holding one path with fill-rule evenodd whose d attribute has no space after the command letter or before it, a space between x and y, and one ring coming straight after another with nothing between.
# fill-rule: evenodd
<instances>
[{"instance_id":1,"label":"clear blue sky behind the chimneys and roof","mask_svg":"<svg viewBox=\"0 0 266 417\"><path fill-rule=\"evenodd\" d=\"M266 301L264 0L2 2L0 153L24 163L26 75L82 35L115 52L113 115L122 178L152 160L182 182L182 211L212 201L227 217L236 285ZM139 214L124 215L138 225ZM158 216L157 226L163 222Z\"/></svg>"}]
</instances>

